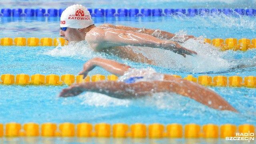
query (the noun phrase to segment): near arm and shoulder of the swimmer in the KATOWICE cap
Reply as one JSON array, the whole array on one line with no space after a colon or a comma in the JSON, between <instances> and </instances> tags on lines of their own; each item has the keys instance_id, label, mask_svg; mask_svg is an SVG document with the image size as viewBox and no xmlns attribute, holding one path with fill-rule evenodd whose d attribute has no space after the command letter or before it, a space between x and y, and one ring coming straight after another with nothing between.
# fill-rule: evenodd
<instances>
[{"instance_id":1,"label":"near arm and shoulder of the swimmer in the KATOWICE cap","mask_svg":"<svg viewBox=\"0 0 256 144\"><path fill-rule=\"evenodd\" d=\"M118 30L118 29L106 29L99 31L97 42L100 43L98 46L95 46L94 49L96 51L103 50L105 48L110 48L112 46L145 46L152 48L161 48L164 50L171 50L177 54L180 54L184 57L185 54L192 55L196 54L196 52L192 50L188 50L178 43L171 40L161 40L155 38L154 36L148 34L141 34L138 32L126 31L126 30ZM95 44L96 42L94 42Z\"/></svg>"}]
</instances>

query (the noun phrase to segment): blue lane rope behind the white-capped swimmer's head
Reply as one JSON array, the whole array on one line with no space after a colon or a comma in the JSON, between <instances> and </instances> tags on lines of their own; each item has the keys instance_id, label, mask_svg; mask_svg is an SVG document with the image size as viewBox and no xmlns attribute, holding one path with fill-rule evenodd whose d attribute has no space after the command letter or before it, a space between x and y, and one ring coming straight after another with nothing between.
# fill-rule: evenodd
<instances>
[{"instance_id":1,"label":"blue lane rope behind the white-capped swimmer's head","mask_svg":"<svg viewBox=\"0 0 256 144\"><path fill-rule=\"evenodd\" d=\"M22 10L21 8L3 8L1 9L0 16L2 17L20 17L20 16L26 16L26 17L57 17L61 16L62 12L65 10L65 8L61 9L45 9L45 8L37 8L37 9L31 9L26 8ZM90 14L94 17L113 17L113 16L130 16L130 17L136 17L136 16L211 16L211 15L220 15L225 14L226 16L256 16L256 9L248 8L248 9L242 9L242 8L188 8L187 10L184 8L178 8L178 9L172 9L172 8L95 8L91 9L89 8L88 11Z\"/></svg>"}]
</instances>

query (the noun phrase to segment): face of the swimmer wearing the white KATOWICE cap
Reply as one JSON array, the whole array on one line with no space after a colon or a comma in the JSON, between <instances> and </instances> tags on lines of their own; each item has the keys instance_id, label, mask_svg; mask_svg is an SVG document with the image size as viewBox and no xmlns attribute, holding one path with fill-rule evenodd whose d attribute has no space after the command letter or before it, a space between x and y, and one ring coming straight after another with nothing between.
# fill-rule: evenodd
<instances>
[{"instance_id":1,"label":"face of the swimmer wearing the white KATOWICE cap","mask_svg":"<svg viewBox=\"0 0 256 144\"><path fill-rule=\"evenodd\" d=\"M60 36L69 42L72 41L81 41L78 34L78 29L76 28L67 28L65 31L60 30Z\"/></svg>"}]
</instances>

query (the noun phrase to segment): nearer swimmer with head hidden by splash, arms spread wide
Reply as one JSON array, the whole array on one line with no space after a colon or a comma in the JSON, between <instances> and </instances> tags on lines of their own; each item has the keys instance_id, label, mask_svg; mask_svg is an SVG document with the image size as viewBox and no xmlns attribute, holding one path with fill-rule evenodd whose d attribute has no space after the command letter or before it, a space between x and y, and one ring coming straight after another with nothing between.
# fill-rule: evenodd
<instances>
[{"instance_id":1,"label":"nearer swimmer with head hidden by splash, arms spread wide","mask_svg":"<svg viewBox=\"0 0 256 144\"><path fill-rule=\"evenodd\" d=\"M114 98L140 98L158 92L173 92L192 98L210 108L238 112L224 98L212 90L181 78L155 72L152 68L136 69L114 60L92 58L84 64L80 72L85 78L91 70L99 66L119 76L117 81L83 82L73 84L60 92L60 97L77 96L82 92L97 92Z\"/></svg>"}]
</instances>

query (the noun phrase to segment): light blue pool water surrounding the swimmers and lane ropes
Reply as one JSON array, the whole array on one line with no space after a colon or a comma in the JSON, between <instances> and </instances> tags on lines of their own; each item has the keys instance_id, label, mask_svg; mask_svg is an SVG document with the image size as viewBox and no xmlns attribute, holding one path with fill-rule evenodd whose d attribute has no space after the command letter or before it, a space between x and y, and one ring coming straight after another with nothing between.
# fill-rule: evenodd
<instances>
[{"instance_id":1,"label":"light blue pool water surrounding the swimmers and lane ropes","mask_svg":"<svg viewBox=\"0 0 256 144\"><path fill-rule=\"evenodd\" d=\"M2 8L16 8L16 2L20 3L20 8L65 8L73 4L69 1L11 1L2 2ZM42 5L38 6L41 2ZM251 8L255 2L248 1L173 1L158 2L150 0L148 2L129 1L119 4L116 0L111 2L99 1L80 2L88 8ZM239 5L239 7L238 7ZM34 17L34 18L1 18L0 38L10 37L37 37L37 38L58 38L59 18ZM250 16L172 16L172 17L137 17L137 18L107 18L94 17L96 26L104 22L121 24L143 28L159 28L177 34L191 34L200 37L198 41L188 40L182 46L196 50L198 56L177 56L172 52L151 49L144 52L149 58L156 60L158 66L152 66L158 72L167 74L177 74L182 78L188 75L198 76L255 76L256 75L256 50L224 51L221 52L210 44L204 44L204 38L248 38L255 37L255 17ZM154 53L154 54L152 54ZM78 43L64 47L55 46L0 46L0 74L74 74L77 75L84 62L90 58L101 56L129 64L130 66L141 68L147 64L135 63L129 60L122 60L116 56L92 52L85 44ZM166 61L168 60L168 63ZM243 65L242 68L236 68ZM89 73L109 75L106 71L96 68ZM85 92L74 98L58 98L58 93L67 86L22 86L22 85L2 85L0 84L0 123L18 122L25 124L35 122L42 124L52 122L60 124L71 122L78 124L88 122L97 124L106 122L116 124L172 124L182 125L196 123L200 126L204 124L253 124L256 125L256 89L247 87L210 87L215 92L223 96L240 113L218 111L204 106L189 98L175 94L159 93L150 98L138 100L118 100L109 98L102 94ZM6 138L0 138L0 142L8 142ZM15 140L14 140L15 141ZM22 142L26 143L26 141ZM36 141L37 142L37 141ZM54 142L56 142L54 140ZM97 140L89 140L91 143L100 143ZM107 141L108 142L108 141ZM110 143L113 140L110 140ZM144 141L143 141L144 142ZM141 142L141 143L143 143ZM146 141L148 142L148 141ZM146 143L144 142L144 143ZM169 142L169 141L168 141ZM184 140L182 141L184 142ZM204 143L205 141L200 141ZM220 141L223 143L226 141ZM79 143L77 140L57 143ZM127 143L131 143L129 139ZM134 142L136 143L136 142ZM139 142L138 142L139 143ZM166 141L162 141L166 143ZM214 143L214 142L213 142Z\"/></svg>"}]
</instances>

